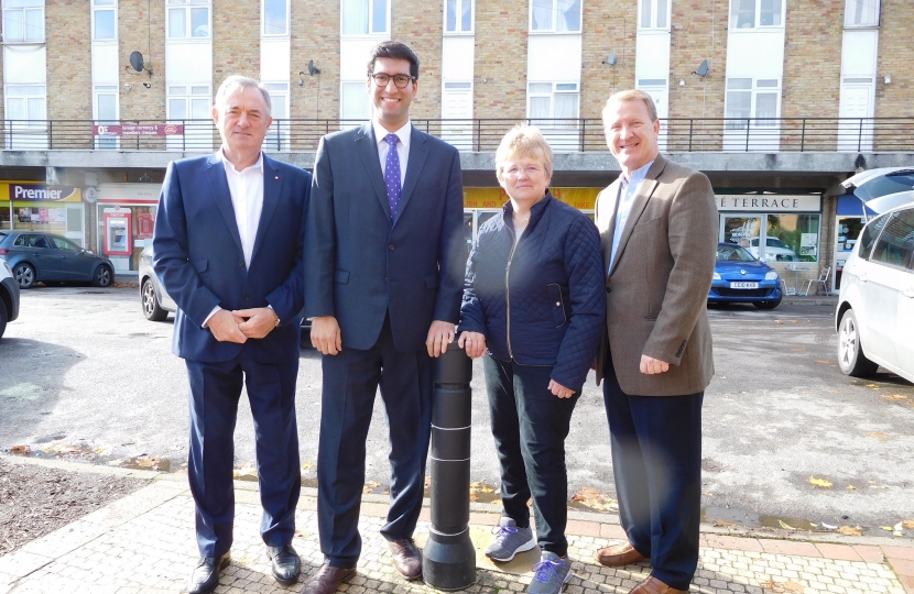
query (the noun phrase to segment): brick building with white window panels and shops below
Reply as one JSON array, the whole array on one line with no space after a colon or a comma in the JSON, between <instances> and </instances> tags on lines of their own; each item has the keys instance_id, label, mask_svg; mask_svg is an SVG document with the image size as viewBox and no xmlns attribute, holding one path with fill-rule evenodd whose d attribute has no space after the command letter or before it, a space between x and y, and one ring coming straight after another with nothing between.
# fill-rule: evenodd
<instances>
[{"instance_id":1,"label":"brick building with white window panels and shops below","mask_svg":"<svg viewBox=\"0 0 914 594\"><path fill-rule=\"evenodd\" d=\"M664 151L711 178L720 239L799 282L840 266L862 222L839 182L914 163L907 0L0 4L0 229L65 233L124 274L168 161L218 146L226 76L268 86L268 150L308 168L322 134L369 118L366 54L390 38L422 61L414 123L461 150L468 240L504 200L493 151L519 121L556 150L555 194L592 209L618 173L600 110L623 88L654 97ZM69 190L22 199L42 185Z\"/></svg>"}]
</instances>

